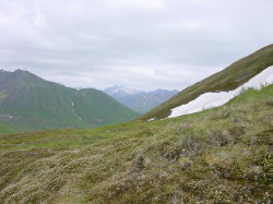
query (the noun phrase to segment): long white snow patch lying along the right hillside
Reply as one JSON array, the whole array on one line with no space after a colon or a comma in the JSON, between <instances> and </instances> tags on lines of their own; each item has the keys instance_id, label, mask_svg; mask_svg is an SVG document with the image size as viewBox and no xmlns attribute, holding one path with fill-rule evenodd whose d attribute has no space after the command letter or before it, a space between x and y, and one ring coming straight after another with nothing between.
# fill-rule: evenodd
<instances>
[{"instance_id":1,"label":"long white snow patch lying along the right hillside","mask_svg":"<svg viewBox=\"0 0 273 204\"><path fill-rule=\"evenodd\" d=\"M171 115L168 118L175 118L182 115L189 115L193 112L202 111L203 109L222 106L237 96L245 88L261 88L264 84L273 83L273 65L266 68L261 73L250 79L247 83L242 84L238 88L229 92L205 93L191 100L188 104L181 105L171 109Z\"/></svg>"}]
</instances>

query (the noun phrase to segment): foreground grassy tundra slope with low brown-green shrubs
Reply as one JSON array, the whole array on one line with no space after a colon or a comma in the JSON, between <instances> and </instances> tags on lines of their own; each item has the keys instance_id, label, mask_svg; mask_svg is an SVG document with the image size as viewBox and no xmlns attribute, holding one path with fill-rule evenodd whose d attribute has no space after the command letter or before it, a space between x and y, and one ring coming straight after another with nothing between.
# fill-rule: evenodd
<instances>
[{"instance_id":1,"label":"foreground grassy tundra slope with low brown-green shrubs","mask_svg":"<svg viewBox=\"0 0 273 204\"><path fill-rule=\"evenodd\" d=\"M0 203L270 203L273 85L175 119L0 136Z\"/></svg>"}]
</instances>

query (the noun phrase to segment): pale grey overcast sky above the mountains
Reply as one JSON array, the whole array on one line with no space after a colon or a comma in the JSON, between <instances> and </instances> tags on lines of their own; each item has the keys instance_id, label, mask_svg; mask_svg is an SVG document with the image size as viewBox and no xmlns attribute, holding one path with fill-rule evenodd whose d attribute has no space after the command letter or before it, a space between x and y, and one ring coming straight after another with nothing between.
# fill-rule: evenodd
<instances>
[{"instance_id":1,"label":"pale grey overcast sky above the mountains","mask_svg":"<svg viewBox=\"0 0 273 204\"><path fill-rule=\"evenodd\" d=\"M0 68L182 89L273 43L273 0L0 0Z\"/></svg>"}]
</instances>

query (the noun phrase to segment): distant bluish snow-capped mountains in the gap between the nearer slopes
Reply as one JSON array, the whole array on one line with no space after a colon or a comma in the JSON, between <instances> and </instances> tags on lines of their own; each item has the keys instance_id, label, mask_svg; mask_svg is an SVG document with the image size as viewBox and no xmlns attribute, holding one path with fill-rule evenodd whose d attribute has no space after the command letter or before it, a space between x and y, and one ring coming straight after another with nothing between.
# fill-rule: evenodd
<instances>
[{"instance_id":1,"label":"distant bluish snow-capped mountains in the gap between the nearer slopes","mask_svg":"<svg viewBox=\"0 0 273 204\"><path fill-rule=\"evenodd\" d=\"M151 110L178 93L176 89L156 89L152 92L144 92L127 88L123 85L115 85L104 89L104 92L140 113Z\"/></svg>"}]
</instances>

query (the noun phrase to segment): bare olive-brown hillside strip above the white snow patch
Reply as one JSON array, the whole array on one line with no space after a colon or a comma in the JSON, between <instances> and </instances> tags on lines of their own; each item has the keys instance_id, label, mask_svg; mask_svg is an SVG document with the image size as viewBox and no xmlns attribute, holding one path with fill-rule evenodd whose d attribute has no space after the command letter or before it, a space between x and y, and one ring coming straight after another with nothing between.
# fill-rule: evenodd
<instances>
[{"instance_id":1,"label":"bare olive-brown hillside strip above the white snow patch","mask_svg":"<svg viewBox=\"0 0 273 204\"><path fill-rule=\"evenodd\" d=\"M188 104L207 92L235 89L271 65L273 65L273 45L266 46L254 53L234 62L225 70L189 86L166 103L141 116L140 119L147 120L152 118L166 118L171 113L173 108Z\"/></svg>"}]
</instances>

